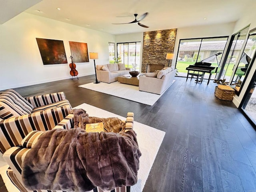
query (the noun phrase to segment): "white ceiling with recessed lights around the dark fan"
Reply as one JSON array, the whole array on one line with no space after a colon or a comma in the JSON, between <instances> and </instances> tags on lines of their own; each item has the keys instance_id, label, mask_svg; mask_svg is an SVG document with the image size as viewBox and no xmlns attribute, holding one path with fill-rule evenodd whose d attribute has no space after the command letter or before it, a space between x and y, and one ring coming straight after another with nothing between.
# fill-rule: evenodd
<instances>
[{"instance_id":1,"label":"white ceiling with recessed lights around the dark fan","mask_svg":"<svg viewBox=\"0 0 256 192\"><path fill-rule=\"evenodd\" d=\"M1 5L6 1L0 0ZM11 1L18 7L17 0ZM31 0L22 0L22 4L30 5ZM235 22L255 5L255 0L42 0L25 12L110 34L126 34ZM12 14L10 10L8 14ZM138 19L145 12L149 14L140 23L149 28L136 23L112 24L131 22L134 13Z\"/></svg>"}]
</instances>

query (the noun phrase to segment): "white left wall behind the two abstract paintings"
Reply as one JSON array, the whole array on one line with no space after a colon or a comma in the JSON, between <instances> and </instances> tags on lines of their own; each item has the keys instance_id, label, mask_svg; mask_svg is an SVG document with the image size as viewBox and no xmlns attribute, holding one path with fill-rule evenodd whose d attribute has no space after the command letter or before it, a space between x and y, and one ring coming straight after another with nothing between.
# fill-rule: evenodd
<instances>
[{"instance_id":1,"label":"white left wall behind the two abstract paintings","mask_svg":"<svg viewBox=\"0 0 256 192\"><path fill-rule=\"evenodd\" d=\"M43 65L36 38L63 40L68 63ZM98 52L96 64L105 64L115 36L24 12L0 25L0 90L71 78L69 41L87 43L88 52ZM93 60L76 63L76 70L94 74Z\"/></svg>"}]
</instances>

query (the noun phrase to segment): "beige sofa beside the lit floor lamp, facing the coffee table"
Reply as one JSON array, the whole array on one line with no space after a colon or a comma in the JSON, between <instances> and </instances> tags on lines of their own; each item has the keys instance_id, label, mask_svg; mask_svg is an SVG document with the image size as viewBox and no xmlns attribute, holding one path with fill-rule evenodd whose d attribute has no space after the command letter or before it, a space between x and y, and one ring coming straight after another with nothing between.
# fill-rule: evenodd
<instances>
[{"instance_id":1,"label":"beige sofa beside the lit floor lamp, facing the coffee table","mask_svg":"<svg viewBox=\"0 0 256 192\"><path fill-rule=\"evenodd\" d=\"M112 83L117 81L118 76L128 74L130 68L126 68L123 63L113 63L106 65L97 65L96 74L98 81Z\"/></svg>"}]
</instances>

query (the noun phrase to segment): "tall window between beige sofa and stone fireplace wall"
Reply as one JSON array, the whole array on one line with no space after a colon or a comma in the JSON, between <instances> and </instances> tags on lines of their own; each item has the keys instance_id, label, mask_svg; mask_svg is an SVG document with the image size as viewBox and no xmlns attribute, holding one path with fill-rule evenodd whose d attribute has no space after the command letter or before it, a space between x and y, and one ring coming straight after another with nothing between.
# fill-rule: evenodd
<instances>
[{"instance_id":1,"label":"tall window between beige sofa and stone fireplace wall","mask_svg":"<svg viewBox=\"0 0 256 192\"><path fill-rule=\"evenodd\" d=\"M137 64L136 69L140 70L140 42L128 42L117 44L117 56L121 58L122 63L132 68L133 64Z\"/></svg>"}]
</instances>

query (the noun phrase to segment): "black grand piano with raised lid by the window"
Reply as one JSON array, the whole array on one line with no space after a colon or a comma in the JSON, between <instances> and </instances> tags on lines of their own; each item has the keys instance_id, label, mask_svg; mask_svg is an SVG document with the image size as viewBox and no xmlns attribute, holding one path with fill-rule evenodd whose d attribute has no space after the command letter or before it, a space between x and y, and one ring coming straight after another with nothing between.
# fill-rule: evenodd
<instances>
[{"instance_id":1,"label":"black grand piano with raised lid by the window","mask_svg":"<svg viewBox=\"0 0 256 192\"><path fill-rule=\"evenodd\" d=\"M191 75L191 76L197 76L197 80L198 81L198 76L201 77L201 83L202 83L202 80L204 78L204 74L205 73L209 73L209 78L208 78L208 82L207 82L207 85L209 84L210 82L210 79L212 77L212 74L214 73L218 73L219 72L219 63L218 63L218 59L217 59L217 56L222 54L222 52L219 52L217 54L214 54L200 62L196 62L194 65L190 65L186 68L186 70L188 70L188 74L187 74L187 80L188 80L188 75ZM217 59L217 64L218 64L218 67L214 67L214 66L211 66L212 63L210 62L206 62L206 61L212 61L212 60L215 60L215 57ZM192 72L190 72L192 71ZM192 77L191 77L192 78Z\"/></svg>"}]
</instances>

